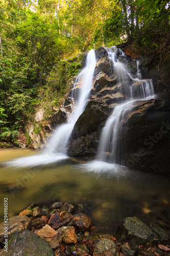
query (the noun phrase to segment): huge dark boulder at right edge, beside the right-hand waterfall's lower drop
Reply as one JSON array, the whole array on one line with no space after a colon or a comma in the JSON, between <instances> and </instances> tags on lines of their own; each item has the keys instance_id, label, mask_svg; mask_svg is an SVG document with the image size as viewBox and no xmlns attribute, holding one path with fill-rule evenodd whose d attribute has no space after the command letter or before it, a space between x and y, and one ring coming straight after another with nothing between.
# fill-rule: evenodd
<instances>
[{"instance_id":1,"label":"huge dark boulder at right edge, beside the right-hand waterfall's lower drop","mask_svg":"<svg viewBox=\"0 0 170 256\"><path fill-rule=\"evenodd\" d=\"M164 98L139 101L125 126L126 155L122 164L158 174L169 175L170 94Z\"/></svg>"}]
</instances>

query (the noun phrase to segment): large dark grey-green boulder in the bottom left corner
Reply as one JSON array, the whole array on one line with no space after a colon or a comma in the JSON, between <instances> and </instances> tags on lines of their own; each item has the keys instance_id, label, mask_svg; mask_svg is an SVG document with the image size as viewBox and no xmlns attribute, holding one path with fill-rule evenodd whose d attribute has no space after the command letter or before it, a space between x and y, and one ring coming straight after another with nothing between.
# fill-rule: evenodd
<instances>
[{"instance_id":1,"label":"large dark grey-green boulder in the bottom left corner","mask_svg":"<svg viewBox=\"0 0 170 256\"><path fill-rule=\"evenodd\" d=\"M54 252L44 239L29 230L25 230L14 234L9 240L8 253L3 251L0 255L54 256Z\"/></svg>"}]
</instances>

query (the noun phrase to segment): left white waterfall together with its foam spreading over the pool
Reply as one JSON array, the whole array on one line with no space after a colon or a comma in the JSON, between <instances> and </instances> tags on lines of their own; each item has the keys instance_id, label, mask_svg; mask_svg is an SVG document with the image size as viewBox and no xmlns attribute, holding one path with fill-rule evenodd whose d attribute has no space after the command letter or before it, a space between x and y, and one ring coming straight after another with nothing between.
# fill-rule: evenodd
<instances>
[{"instance_id":1,"label":"left white waterfall together with its foam spreading over the pool","mask_svg":"<svg viewBox=\"0 0 170 256\"><path fill-rule=\"evenodd\" d=\"M68 123L59 125L48 142L48 147L45 148L43 154L18 158L7 163L7 165L13 166L35 166L39 164L48 164L61 161L67 158L67 146L69 138L71 136L72 129L79 116L83 113L87 100L92 89L92 78L94 68L96 64L95 52L90 50L87 55L86 67L81 71L79 77L81 77L82 84L79 92L79 98L77 100L77 106L69 117ZM78 79L80 79L78 77Z\"/></svg>"}]
</instances>

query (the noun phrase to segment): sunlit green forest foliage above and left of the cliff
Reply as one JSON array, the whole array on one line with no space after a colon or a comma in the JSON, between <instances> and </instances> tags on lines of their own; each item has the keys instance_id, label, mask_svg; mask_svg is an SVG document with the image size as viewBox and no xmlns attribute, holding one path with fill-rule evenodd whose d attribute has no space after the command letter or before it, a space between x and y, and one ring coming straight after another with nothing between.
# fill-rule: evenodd
<instances>
[{"instance_id":1,"label":"sunlit green forest foliage above and left of the cliff","mask_svg":"<svg viewBox=\"0 0 170 256\"><path fill-rule=\"evenodd\" d=\"M126 40L133 48L169 50L169 4L1 0L0 28L0 132L13 140L39 105L45 114L61 105L68 80L84 66L80 53Z\"/></svg>"}]
</instances>

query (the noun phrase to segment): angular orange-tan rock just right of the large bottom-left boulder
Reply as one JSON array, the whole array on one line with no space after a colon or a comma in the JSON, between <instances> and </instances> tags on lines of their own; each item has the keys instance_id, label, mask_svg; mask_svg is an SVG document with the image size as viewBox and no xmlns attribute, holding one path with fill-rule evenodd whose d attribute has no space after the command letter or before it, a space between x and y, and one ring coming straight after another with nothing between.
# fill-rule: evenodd
<instances>
[{"instance_id":1,"label":"angular orange-tan rock just right of the large bottom-left boulder","mask_svg":"<svg viewBox=\"0 0 170 256\"><path fill-rule=\"evenodd\" d=\"M62 238L58 236L56 231L49 225L45 225L41 230L37 232L38 236L44 238L52 249L57 249L62 241Z\"/></svg>"}]
</instances>

